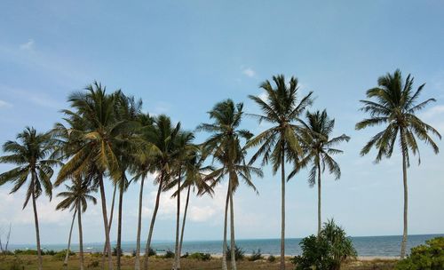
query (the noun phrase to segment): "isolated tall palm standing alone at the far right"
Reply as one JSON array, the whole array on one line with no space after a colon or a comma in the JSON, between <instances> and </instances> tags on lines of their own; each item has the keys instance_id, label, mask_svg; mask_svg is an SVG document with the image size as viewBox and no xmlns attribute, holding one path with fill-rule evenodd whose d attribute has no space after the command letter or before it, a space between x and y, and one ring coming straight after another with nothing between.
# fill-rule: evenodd
<instances>
[{"instance_id":1,"label":"isolated tall palm standing alone at the far right","mask_svg":"<svg viewBox=\"0 0 444 270\"><path fill-rule=\"evenodd\" d=\"M430 145L435 154L439 148L430 135L435 135L441 139L440 133L431 125L424 123L416 116L416 113L427 106L435 99L427 99L417 102L417 99L424 89L425 84L421 84L416 91L413 91L413 77L408 75L403 81L400 70L393 74L386 74L377 80L378 86L367 91L367 97L374 100L361 100L362 108L370 117L356 123L356 130L362 130L376 125L385 125L385 129L373 136L369 142L362 147L361 155L369 154L371 148L377 149L376 163L383 157L390 158L396 144L400 143L400 153L402 155L402 182L404 186L404 230L400 246L400 257L406 255L407 243L407 213L408 213L408 187L407 168L410 165L409 152L419 155L417 140L424 141ZM421 160L418 158L418 163Z\"/></svg>"}]
</instances>

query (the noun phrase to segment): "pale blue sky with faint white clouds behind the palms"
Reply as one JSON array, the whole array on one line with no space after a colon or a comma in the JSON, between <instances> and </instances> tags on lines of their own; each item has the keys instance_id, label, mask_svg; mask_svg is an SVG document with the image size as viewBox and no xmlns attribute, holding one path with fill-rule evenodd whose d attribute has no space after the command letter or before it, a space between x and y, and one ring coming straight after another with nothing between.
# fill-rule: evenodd
<instances>
[{"instance_id":1,"label":"pale blue sky with faint white clouds behind the palms","mask_svg":"<svg viewBox=\"0 0 444 270\"><path fill-rule=\"evenodd\" d=\"M273 75L297 76L301 94L313 91L310 108L327 108L334 135L349 135L337 155L342 178L323 175L322 217L335 218L350 235L402 233L400 155L375 164L361 147L382 127L355 131L359 110L377 78L400 68L426 83L423 99L437 102L420 117L444 134L444 2L442 1L2 1L0 4L0 142L26 126L48 131L61 121L67 95L94 80L143 99L144 110L170 115L189 131L208 123L218 101L243 102ZM268 126L246 117L255 134ZM197 133L196 142L208 134ZM444 144L438 141L444 151ZM422 163L408 169L408 233L444 233L443 155L421 147ZM397 152L398 153L398 152ZM0 153L4 154L4 153ZM0 172L11 169L0 164ZM280 180L269 166L254 179L259 195L240 187L234 195L236 237L280 237ZM287 237L317 229L316 188L302 171L287 185ZM107 184L108 209L112 187ZM31 204L24 192L0 187L0 232L12 223L13 243L35 242ZM37 201L43 243L67 241L72 213L56 211L59 199ZM144 190L142 239L147 236L156 188ZM193 197L185 240L223 236L226 184L214 198ZM124 195L123 241L136 239L139 184ZM99 195L97 195L99 197ZM162 195L155 240L174 239L175 202ZM116 224L116 221L115 221ZM111 239L115 240L115 227ZM83 216L83 242L102 242L99 204ZM74 232L76 242L76 228Z\"/></svg>"}]
</instances>

